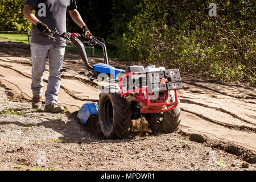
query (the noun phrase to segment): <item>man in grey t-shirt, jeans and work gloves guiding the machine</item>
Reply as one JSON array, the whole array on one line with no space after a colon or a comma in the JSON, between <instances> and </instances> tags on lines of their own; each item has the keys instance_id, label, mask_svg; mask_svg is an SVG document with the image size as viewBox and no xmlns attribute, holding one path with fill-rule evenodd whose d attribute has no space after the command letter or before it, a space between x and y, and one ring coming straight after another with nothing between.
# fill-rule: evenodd
<instances>
[{"instance_id":1,"label":"man in grey t-shirt, jeans and work gloves guiding the machine","mask_svg":"<svg viewBox=\"0 0 256 182\"><path fill-rule=\"evenodd\" d=\"M35 14L32 13L35 10ZM33 93L32 108L42 106L43 74L46 70L46 59L49 59L49 78L46 90L45 111L58 113L64 111L57 105L58 92L61 84L61 72L65 53L65 42L53 42L40 34L57 30L66 32L67 10L73 21L82 28L83 36L90 33L77 11L75 0L27 0L23 14L32 23L31 61ZM63 39L64 40L64 39Z\"/></svg>"}]
</instances>

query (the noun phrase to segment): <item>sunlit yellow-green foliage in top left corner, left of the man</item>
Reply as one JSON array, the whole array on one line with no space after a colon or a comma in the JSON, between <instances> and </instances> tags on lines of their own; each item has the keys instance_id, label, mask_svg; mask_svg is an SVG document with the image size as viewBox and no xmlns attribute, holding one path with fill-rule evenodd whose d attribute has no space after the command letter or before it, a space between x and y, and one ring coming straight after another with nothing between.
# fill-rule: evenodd
<instances>
[{"instance_id":1,"label":"sunlit yellow-green foliage in top left corner, left of the man","mask_svg":"<svg viewBox=\"0 0 256 182\"><path fill-rule=\"evenodd\" d=\"M0 1L0 30L30 31L31 23L23 16L24 0Z\"/></svg>"}]
</instances>

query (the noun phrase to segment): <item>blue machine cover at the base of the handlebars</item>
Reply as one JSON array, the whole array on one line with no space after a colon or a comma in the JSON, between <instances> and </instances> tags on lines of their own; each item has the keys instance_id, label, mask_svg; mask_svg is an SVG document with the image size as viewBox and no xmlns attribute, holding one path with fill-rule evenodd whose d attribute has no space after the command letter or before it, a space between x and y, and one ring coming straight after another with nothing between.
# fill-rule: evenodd
<instances>
[{"instance_id":1,"label":"blue machine cover at the base of the handlebars","mask_svg":"<svg viewBox=\"0 0 256 182\"><path fill-rule=\"evenodd\" d=\"M117 78L118 73L124 72L123 69L116 69L116 68L114 68L108 64L104 64L104 63L98 63L98 64L93 65L93 69L94 69L94 71L99 72L99 73L112 74L112 75L114 75L115 80L118 80L118 78Z\"/></svg>"}]
</instances>

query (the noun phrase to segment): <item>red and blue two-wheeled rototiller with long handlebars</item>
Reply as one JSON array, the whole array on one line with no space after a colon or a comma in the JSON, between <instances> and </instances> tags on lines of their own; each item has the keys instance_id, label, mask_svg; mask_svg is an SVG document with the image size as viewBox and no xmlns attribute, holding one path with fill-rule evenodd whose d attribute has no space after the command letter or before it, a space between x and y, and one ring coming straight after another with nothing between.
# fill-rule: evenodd
<instances>
[{"instance_id":1,"label":"red and blue two-wheeled rototiller with long handlebars","mask_svg":"<svg viewBox=\"0 0 256 182\"><path fill-rule=\"evenodd\" d=\"M181 113L177 89L182 89L179 69L166 70L164 67L155 68L154 65L116 69L109 65L105 43L88 34L86 43L89 46L99 44L104 51L104 63L91 66L79 34L60 35L56 31L42 35L53 41L72 42L79 50L86 68L93 73L93 76L86 76L85 72L80 75L90 80L109 81L109 86L102 90L97 103L86 103L79 110L77 117L82 123L86 123L90 115L97 114L102 133L112 139L129 135L131 120L141 117L146 117L153 133L172 133L177 130ZM69 72L65 69L61 71ZM102 80L102 73L110 78Z\"/></svg>"}]
</instances>

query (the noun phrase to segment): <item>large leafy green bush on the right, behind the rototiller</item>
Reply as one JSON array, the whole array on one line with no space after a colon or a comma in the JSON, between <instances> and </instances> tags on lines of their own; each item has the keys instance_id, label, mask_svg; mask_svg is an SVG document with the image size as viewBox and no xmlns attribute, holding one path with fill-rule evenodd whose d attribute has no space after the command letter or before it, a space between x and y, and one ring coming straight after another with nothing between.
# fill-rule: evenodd
<instances>
[{"instance_id":1,"label":"large leafy green bush on the right, behind the rototiller","mask_svg":"<svg viewBox=\"0 0 256 182\"><path fill-rule=\"evenodd\" d=\"M124 60L222 81L255 81L255 1L143 0L118 44Z\"/></svg>"}]
</instances>

